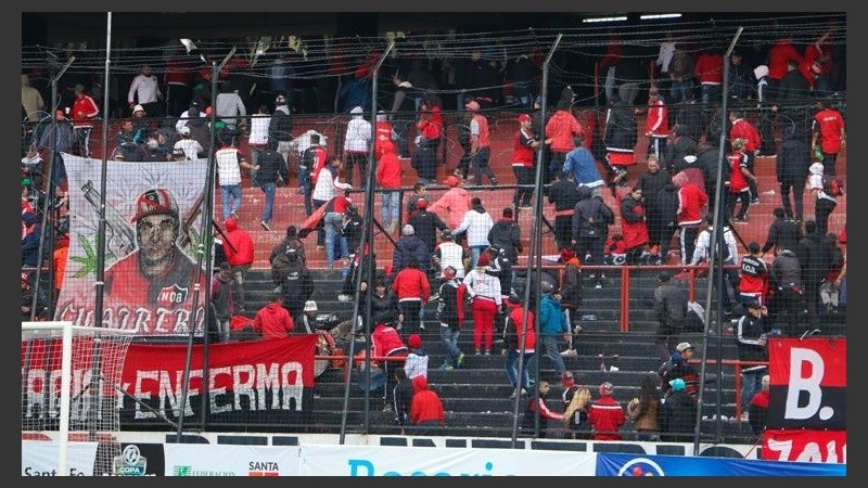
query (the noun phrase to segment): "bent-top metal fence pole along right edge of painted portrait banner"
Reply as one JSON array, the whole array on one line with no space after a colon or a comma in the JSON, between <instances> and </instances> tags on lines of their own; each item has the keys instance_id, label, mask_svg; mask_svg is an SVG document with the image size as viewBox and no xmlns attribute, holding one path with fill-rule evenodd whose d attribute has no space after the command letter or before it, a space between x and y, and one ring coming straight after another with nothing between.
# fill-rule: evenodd
<instances>
[{"instance_id":1,"label":"bent-top metal fence pole along right edge of painted portrait banner","mask_svg":"<svg viewBox=\"0 0 868 488\"><path fill-rule=\"evenodd\" d=\"M196 249L196 278L195 282L193 283L193 310L190 317L190 335L187 338L187 357L184 359L184 368L183 368L183 380L181 380L181 400L178 403L178 435L175 439L176 442L181 442L181 435L183 433L183 412L187 408L187 397L189 393L189 383L190 383L190 363L192 362L193 358L193 337L195 336L195 329L199 311L199 295L200 295L200 282L202 281L202 261L205 257L208 259L205 261L205 274L208 277L205 280L205 297L203 298L203 326L202 326L202 336L204 338L205 350L202 355L203 360L203 369L205 370L205 374L207 374L207 364L208 364L208 323L210 323L210 307L208 306L210 303L210 275L213 273L213 264L212 264L212 247L214 246L214 233L212 232L212 219L214 218L214 177L215 177L215 164L214 164L214 143L216 140L216 129L215 124L217 121L217 111L214 110L214 106L217 103L217 77L219 76L220 69L229 63L229 60L235 54L235 48L232 47L232 50L229 51L229 54L226 55L220 64L212 61L212 73L210 73L210 146L208 147L208 170L207 176L205 177L205 204L203 205L203 216L202 216L202 241L199 243ZM203 398L207 397L207 384L203 383L202 385L202 395ZM205 425L205 411L207 408L207 402L202 402L202 425Z\"/></svg>"}]
</instances>

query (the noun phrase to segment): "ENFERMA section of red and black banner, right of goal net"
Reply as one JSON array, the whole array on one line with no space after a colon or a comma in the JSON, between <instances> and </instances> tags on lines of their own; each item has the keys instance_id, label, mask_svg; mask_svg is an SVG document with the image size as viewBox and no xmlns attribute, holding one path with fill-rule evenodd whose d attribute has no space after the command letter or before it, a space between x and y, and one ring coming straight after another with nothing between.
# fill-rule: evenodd
<instances>
[{"instance_id":1,"label":"ENFERMA section of red and black banner, right of goal net","mask_svg":"<svg viewBox=\"0 0 868 488\"><path fill-rule=\"evenodd\" d=\"M305 422L316 344L315 334L215 344L207 351L207 369L204 347L193 346L184 423L195 423L203 411L210 425ZM122 426L153 424L159 414L178 420L186 358L186 345L130 345L122 387L136 400L124 397Z\"/></svg>"}]
</instances>

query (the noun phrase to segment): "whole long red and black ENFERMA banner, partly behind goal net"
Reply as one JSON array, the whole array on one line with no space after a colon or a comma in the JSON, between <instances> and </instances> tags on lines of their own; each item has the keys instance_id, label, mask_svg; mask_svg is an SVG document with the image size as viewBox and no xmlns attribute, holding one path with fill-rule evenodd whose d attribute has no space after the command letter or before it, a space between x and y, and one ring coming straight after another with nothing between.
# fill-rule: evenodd
<instances>
[{"instance_id":1,"label":"whole long red and black ENFERMA banner, partly behind goal net","mask_svg":"<svg viewBox=\"0 0 868 488\"><path fill-rule=\"evenodd\" d=\"M183 415L196 422L204 413L212 424L289 424L303 422L311 410L315 384L314 356L318 335L304 334L281 339L194 345L187 384ZM90 351L94 342L76 341L76 349ZM81 349L87 347L87 349ZM103 356L106 351L103 347ZM26 374L22 421L31 429L39 423L56 422L54 407L60 400L61 343L22 343L22 374ZM73 420L88 412L94 395L92 355L74 356L72 369ZM204 368L203 358L208 367ZM166 425L164 416L177 421L183 394L186 345L131 344L120 377L103 357L102 397L123 404L122 425ZM47 384L48 383L48 384ZM120 387L125 393L118 391Z\"/></svg>"}]
</instances>

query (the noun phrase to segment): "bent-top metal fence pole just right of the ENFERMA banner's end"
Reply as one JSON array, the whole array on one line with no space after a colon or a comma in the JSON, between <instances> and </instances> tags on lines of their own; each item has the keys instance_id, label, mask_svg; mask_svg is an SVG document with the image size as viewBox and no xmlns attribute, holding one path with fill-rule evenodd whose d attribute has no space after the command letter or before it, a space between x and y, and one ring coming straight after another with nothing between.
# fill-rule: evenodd
<instances>
[{"instance_id":1,"label":"bent-top metal fence pole just right of the ENFERMA banner's end","mask_svg":"<svg viewBox=\"0 0 868 488\"><path fill-rule=\"evenodd\" d=\"M359 264L357 270L360 270L360 272L357 273L356 277L363 275L366 282L368 283L368 291L365 294L365 317L368 318L368 320L365 322L367 324L365 329L365 334L366 337L368 337L368 342L366 344L368 344L369 346L371 337L371 320L372 320L371 300L373 298L373 287L374 287L374 282L373 282L374 267L372 259L370 258L366 259L366 252L371 254L373 253L373 217L371 216L371 213L373 211L373 187L376 183L375 181L376 158L374 157L375 156L374 149L376 145L376 78L380 74L380 67L383 65L383 62L385 62L386 56L388 56L388 53L392 52L394 48L395 48L395 41L390 42L385 52L376 61L376 64L374 65L371 75L371 143L370 147L368 149L368 168L366 170L366 175L363 175L362 178L365 184L365 215L361 217L361 222L362 222L361 229L365 237L361 240L361 246L357 251L357 253L359 254ZM337 444L342 446L346 441L346 418L347 418L347 412L349 410L349 383L350 383L350 377L353 375L353 364L354 364L353 356L355 356L356 354L355 332L356 332L356 325L358 324L359 320L361 280L356 279L354 287L355 287L355 298L353 300L353 318L350 319L350 324L349 324L352 331L350 335L352 338L349 341L349 357L347 358L347 361L344 365L344 371L345 371L344 411L341 414L341 435L337 440ZM369 385L371 382L371 355L370 355L371 349L368 350L369 354L365 358L365 374L367 376L365 382L366 385ZM388 368L386 368L386 371L387 370ZM386 378L386 384L388 384L388 378ZM370 415L371 415L369 399L370 399L370 391L368 391L366 388L365 391L366 432L368 431L368 426L370 424Z\"/></svg>"}]
</instances>

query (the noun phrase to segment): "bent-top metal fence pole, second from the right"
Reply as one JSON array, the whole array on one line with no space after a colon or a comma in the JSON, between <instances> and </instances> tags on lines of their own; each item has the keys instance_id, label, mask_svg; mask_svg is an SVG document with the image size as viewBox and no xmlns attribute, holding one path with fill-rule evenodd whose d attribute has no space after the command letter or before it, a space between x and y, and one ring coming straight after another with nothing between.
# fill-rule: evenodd
<instances>
[{"instance_id":1,"label":"bent-top metal fence pole, second from the right","mask_svg":"<svg viewBox=\"0 0 868 488\"><path fill-rule=\"evenodd\" d=\"M542 63L542 107L541 111L541 118L542 124L545 126L546 121L546 106L548 100L548 91L549 91L549 63L551 63L551 57L554 55L554 51L558 49L558 44L561 43L561 38L563 34L558 34L558 37L554 39L554 43L551 46L549 50L549 54L546 56L546 61ZM542 149L538 149L536 152L536 180L534 182L534 215L542 215ZM534 285L536 287L536 296L539 297L539 278L541 275L541 243L542 243L542 227L539 219L532 219L531 220L531 248L528 249L527 254L527 270L525 272L525 283L524 283L524 298L522 300L524 312L522 313L522 323L516 324L515 326L524 325L527 322L527 306L531 301L531 286ZM536 283L533 283L531 280L532 272L534 269L534 258L536 258L537 267L536 273L534 277L536 278ZM538 321L539 321L539 299L537 299L537 312L536 312L536 320L534 326L538 330ZM516 329L518 333L518 329ZM527 334L522 334L522 344L521 354L519 355L519 380L515 382L515 401L512 406L512 440L510 442L510 447L515 449L515 444L518 441L519 436L519 409L521 407L521 389L522 389L522 377L524 374L524 344L527 339ZM537 371L539 372L539 361L536 361ZM538 376L538 374L537 374ZM538 389L533 393L534 400L538 399ZM529 394L529 391L528 391ZM536 435L539 425L539 412L537 412L537 419L534 426L534 434Z\"/></svg>"}]
</instances>

